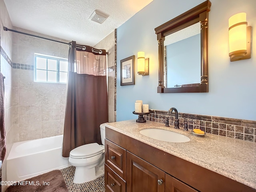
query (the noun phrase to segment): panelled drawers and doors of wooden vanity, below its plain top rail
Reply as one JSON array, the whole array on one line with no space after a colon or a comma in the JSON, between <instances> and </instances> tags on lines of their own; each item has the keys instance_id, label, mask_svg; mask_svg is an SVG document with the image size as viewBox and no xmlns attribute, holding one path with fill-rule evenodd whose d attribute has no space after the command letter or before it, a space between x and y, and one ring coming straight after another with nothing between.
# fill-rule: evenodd
<instances>
[{"instance_id":1,"label":"panelled drawers and doors of wooden vanity, below its plain top rail","mask_svg":"<svg viewBox=\"0 0 256 192\"><path fill-rule=\"evenodd\" d=\"M105 147L106 192L197 192L107 139Z\"/></svg>"}]
</instances>

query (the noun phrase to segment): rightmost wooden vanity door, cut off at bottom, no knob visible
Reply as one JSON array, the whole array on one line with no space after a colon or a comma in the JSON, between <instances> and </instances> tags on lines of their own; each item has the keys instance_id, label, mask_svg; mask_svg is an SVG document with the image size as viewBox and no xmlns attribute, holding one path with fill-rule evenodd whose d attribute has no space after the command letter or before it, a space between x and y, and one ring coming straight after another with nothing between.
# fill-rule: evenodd
<instances>
[{"instance_id":1,"label":"rightmost wooden vanity door, cut off at bottom, no knob visible","mask_svg":"<svg viewBox=\"0 0 256 192\"><path fill-rule=\"evenodd\" d=\"M165 174L165 192L198 192L180 180Z\"/></svg>"}]
</instances>

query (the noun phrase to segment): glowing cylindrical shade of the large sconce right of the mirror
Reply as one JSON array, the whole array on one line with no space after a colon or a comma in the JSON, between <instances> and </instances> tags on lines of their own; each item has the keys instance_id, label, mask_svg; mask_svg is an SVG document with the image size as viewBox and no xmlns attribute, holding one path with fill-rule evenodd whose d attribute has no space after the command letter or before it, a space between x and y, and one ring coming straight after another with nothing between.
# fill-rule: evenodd
<instances>
[{"instance_id":1,"label":"glowing cylindrical shade of the large sconce right of the mirror","mask_svg":"<svg viewBox=\"0 0 256 192\"><path fill-rule=\"evenodd\" d=\"M246 46L246 13L238 13L228 20L229 56L240 59L247 53Z\"/></svg>"}]
</instances>

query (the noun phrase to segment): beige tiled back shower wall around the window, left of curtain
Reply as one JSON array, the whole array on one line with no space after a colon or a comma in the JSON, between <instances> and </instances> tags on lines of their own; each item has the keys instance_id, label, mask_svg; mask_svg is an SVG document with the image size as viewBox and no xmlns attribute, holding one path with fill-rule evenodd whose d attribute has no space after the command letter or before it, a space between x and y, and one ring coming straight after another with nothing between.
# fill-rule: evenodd
<instances>
[{"instance_id":1,"label":"beige tiled back shower wall around the window, left of curtain","mask_svg":"<svg viewBox=\"0 0 256 192\"><path fill-rule=\"evenodd\" d=\"M14 30L64 41L21 28ZM19 33L12 35L13 115L19 141L63 134L66 84L34 82L34 54L68 58L69 46Z\"/></svg>"}]
</instances>

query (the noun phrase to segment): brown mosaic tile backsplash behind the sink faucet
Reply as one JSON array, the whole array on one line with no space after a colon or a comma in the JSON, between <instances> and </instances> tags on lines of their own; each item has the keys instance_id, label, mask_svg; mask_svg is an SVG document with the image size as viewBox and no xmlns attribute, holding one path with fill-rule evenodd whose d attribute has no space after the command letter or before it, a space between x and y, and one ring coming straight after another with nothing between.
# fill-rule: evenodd
<instances>
[{"instance_id":1,"label":"brown mosaic tile backsplash behind the sink faucet","mask_svg":"<svg viewBox=\"0 0 256 192\"><path fill-rule=\"evenodd\" d=\"M152 110L150 114L144 115L144 118L163 124L168 118L169 124L174 126L175 115L166 115L166 113L167 111ZM189 130L199 128L209 134L256 142L256 121L188 113L178 114L180 129L184 127L183 122L188 121Z\"/></svg>"}]
</instances>

